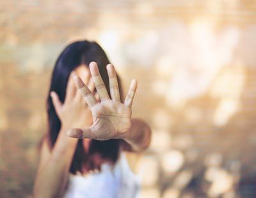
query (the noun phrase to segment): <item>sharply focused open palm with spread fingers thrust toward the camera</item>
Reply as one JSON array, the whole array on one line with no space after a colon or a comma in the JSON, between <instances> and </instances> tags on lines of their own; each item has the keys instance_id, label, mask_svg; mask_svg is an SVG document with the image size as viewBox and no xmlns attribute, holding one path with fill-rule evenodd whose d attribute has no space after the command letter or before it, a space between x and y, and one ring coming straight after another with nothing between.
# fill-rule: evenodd
<instances>
[{"instance_id":1,"label":"sharply focused open palm with spread fingers thrust toward the camera","mask_svg":"<svg viewBox=\"0 0 256 198\"><path fill-rule=\"evenodd\" d=\"M116 139L131 127L131 105L137 88L137 81L132 80L125 102L121 103L115 68L109 64L107 70L111 98L109 98L108 91L100 76L97 63L90 63L90 72L100 102L93 96L92 91L84 84L83 80L74 75L76 87L81 91L84 100L92 110L93 125L88 128L72 128L68 130L68 136L98 140Z\"/></svg>"}]
</instances>

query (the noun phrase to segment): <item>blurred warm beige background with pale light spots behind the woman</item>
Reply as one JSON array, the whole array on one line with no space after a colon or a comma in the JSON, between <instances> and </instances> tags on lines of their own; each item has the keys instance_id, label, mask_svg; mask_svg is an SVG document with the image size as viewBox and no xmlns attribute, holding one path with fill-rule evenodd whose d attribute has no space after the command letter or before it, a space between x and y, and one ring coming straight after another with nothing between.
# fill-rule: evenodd
<instances>
[{"instance_id":1,"label":"blurred warm beige background with pale light spots behind the woman","mask_svg":"<svg viewBox=\"0 0 256 198\"><path fill-rule=\"evenodd\" d=\"M255 35L249 0L1 0L1 197L31 197L52 67L84 39L138 79L141 197L256 197Z\"/></svg>"}]
</instances>

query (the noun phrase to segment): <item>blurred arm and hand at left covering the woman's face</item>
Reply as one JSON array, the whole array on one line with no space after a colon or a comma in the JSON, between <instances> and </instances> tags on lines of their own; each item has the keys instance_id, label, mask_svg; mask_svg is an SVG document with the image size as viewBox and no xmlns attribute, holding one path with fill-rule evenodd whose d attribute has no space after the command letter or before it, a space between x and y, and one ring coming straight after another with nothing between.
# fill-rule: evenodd
<instances>
[{"instance_id":1,"label":"blurred arm and hand at left covering the woman's face","mask_svg":"<svg viewBox=\"0 0 256 198\"><path fill-rule=\"evenodd\" d=\"M89 81L88 73L86 83ZM88 85L93 90L93 83ZM35 197L60 197L65 190L68 182L70 165L74 152L76 151L78 139L67 137L66 132L72 127L86 127L92 124L92 112L83 102L83 96L70 77L67 86L67 95L62 104L58 95L51 93L54 109L61 121L61 130L54 147L50 151L45 140L41 149L40 165L35 179Z\"/></svg>"}]
</instances>

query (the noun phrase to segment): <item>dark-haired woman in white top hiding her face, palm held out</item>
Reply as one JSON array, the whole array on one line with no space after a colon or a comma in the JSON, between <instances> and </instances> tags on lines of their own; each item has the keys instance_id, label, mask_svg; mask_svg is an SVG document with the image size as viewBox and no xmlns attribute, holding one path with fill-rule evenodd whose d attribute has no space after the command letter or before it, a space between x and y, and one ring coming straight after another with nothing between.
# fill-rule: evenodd
<instances>
[{"instance_id":1,"label":"dark-haired woman in white top hiding her face, palm held out","mask_svg":"<svg viewBox=\"0 0 256 198\"><path fill-rule=\"evenodd\" d=\"M132 80L122 103L118 75L97 43L75 42L63 50L47 98L49 130L40 150L35 197L137 195L129 159L148 147L151 131L131 118L136 88Z\"/></svg>"}]
</instances>

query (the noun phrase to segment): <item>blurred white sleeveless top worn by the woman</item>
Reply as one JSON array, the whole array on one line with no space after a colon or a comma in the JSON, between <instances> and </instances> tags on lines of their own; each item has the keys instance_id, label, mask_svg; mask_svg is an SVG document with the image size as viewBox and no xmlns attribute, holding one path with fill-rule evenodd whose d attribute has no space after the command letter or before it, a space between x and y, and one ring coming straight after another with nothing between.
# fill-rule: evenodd
<instances>
[{"instance_id":1,"label":"blurred white sleeveless top worn by the woman","mask_svg":"<svg viewBox=\"0 0 256 198\"><path fill-rule=\"evenodd\" d=\"M64 198L134 198L140 191L140 178L129 167L124 153L114 167L102 164L102 171L92 174L70 174Z\"/></svg>"}]
</instances>

